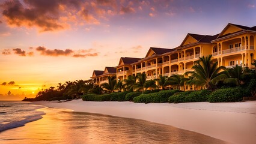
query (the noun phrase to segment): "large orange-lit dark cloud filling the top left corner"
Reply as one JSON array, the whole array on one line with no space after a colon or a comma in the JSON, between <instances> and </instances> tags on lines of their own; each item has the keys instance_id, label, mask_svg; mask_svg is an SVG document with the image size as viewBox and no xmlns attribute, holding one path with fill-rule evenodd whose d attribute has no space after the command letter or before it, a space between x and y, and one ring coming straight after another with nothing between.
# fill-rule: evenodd
<instances>
[{"instance_id":1,"label":"large orange-lit dark cloud filling the top left corner","mask_svg":"<svg viewBox=\"0 0 256 144\"><path fill-rule=\"evenodd\" d=\"M64 29L58 23L58 1L25 0L28 7L18 0L6 1L2 4L2 15L7 19L8 25L12 26L37 26L40 31L55 31Z\"/></svg>"}]
</instances>

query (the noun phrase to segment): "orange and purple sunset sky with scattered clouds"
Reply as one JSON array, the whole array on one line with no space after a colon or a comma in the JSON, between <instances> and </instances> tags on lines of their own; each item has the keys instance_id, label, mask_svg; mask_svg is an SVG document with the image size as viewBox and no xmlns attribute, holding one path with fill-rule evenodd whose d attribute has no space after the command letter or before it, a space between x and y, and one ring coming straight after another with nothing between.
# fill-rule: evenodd
<instances>
[{"instance_id":1,"label":"orange and purple sunset sky with scattered clouds","mask_svg":"<svg viewBox=\"0 0 256 144\"><path fill-rule=\"evenodd\" d=\"M34 97L93 70L172 49L186 34L256 25L256 1L0 1L0 100ZM9 92L10 91L10 92Z\"/></svg>"}]
</instances>

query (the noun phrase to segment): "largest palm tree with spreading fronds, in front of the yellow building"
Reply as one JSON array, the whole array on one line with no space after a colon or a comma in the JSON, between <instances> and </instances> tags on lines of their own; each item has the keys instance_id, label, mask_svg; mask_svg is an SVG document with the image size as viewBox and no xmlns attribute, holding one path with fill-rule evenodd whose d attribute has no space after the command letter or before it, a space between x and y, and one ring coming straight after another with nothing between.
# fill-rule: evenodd
<instances>
[{"instance_id":1,"label":"largest palm tree with spreading fronds, in front of the yellow building","mask_svg":"<svg viewBox=\"0 0 256 144\"><path fill-rule=\"evenodd\" d=\"M195 71L187 71L185 74L191 74L192 79L187 81L189 85L206 85L207 89L214 89L218 80L229 77L228 71L224 66L218 67L218 62L212 61L212 55L201 57L194 62L192 67Z\"/></svg>"}]
</instances>

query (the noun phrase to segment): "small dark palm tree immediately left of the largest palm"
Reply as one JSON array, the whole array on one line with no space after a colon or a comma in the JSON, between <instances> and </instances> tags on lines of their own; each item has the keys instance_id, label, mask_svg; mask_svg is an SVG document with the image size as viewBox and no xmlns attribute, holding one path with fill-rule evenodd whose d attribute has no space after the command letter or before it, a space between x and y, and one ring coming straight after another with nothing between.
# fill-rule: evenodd
<instances>
[{"instance_id":1,"label":"small dark palm tree immediately left of the largest palm","mask_svg":"<svg viewBox=\"0 0 256 144\"><path fill-rule=\"evenodd\" d=\"M175 86L177 89L180 89L181 86L183 86L183 90L185 91L185 82L188 79L185 78L183 75L181 74L174 74L171 77L169 77L169 85L171 86Z\"/></svg>"}]
</instances>

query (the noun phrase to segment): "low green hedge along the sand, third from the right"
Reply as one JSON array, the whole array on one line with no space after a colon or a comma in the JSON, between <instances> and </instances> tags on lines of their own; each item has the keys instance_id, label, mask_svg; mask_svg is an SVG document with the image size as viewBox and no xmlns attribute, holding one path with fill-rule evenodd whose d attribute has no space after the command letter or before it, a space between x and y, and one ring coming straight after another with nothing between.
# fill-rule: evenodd
<instances>
[{"instance_id":1,"label":"low green hedge along the sand, third from the right","mask_svg":"<svg viewBox=\"0 0 256 144\"><path fill-rule=\"evenodd\" d=\"M133 101L135 103L166 103L168 97L175 94L175 92L177 92L177 90L165 90L151 94L142 94L133 98Z\"/></svg>"}]
</instances>

